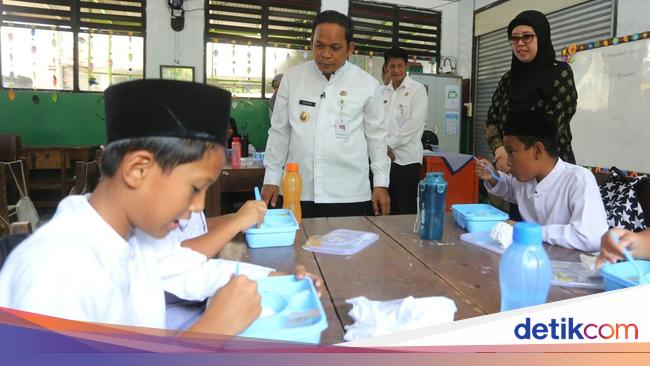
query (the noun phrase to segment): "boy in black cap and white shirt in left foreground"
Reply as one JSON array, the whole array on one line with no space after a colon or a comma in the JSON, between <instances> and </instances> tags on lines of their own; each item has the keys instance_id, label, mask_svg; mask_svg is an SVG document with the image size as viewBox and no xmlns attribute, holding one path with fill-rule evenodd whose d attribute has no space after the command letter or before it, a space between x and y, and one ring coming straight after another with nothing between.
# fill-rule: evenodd
<instances>
[{"instance_id":1,"label":"boy in black cap and white shirt in left foreground","mask_svg":"<svg viewBox=\"0 0 650 366\"><path fill-rule=\"evenodd\" d=\"M176 244L176 252L159 250L134 231L165 238L203 209L225 162L230 93L139 80L108 88L105 103L102 180L92 195L61 201L52 220L11 253L0 271L0 306L164 328L163 289L189 291L196 278L166 261L204 267L209 261ZM235 335L260 314L255 282L243 275L224 282L190 331Z\"/></svg>"}]
</instances>

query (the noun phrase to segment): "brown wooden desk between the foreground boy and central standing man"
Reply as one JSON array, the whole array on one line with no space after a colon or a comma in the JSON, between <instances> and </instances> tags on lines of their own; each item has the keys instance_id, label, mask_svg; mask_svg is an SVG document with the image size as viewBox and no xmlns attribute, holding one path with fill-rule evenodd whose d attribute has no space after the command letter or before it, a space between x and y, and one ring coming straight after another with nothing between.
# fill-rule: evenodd
<instances>
[{"instance_id":1,"label":"brown wooden desk between the foreground boy and central standing man","mask_svg":"<svg viewBox=\"0 0 650 366\"><path fill-rule=\"evenodd\" d=\"M222 194L250 193L253 196L255 186L262 188L264 183L264 166L257 162L251 166L234 169L230 159L221 171L221 177L208 189L205 196L205 215L219 216L224 212ZM252 198L251 198L252 199Z\"/></svg>"}]
</instances>

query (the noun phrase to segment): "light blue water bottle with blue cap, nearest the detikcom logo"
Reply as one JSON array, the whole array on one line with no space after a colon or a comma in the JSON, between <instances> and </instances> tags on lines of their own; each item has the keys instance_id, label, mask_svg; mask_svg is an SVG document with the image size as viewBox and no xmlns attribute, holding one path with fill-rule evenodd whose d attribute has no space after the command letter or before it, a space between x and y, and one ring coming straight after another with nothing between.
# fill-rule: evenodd
<instances>
[{"instance_id":1,"label":"light blue water bottle with blue cap, nearest the detikcom logo","mask_svg":"<svg viewBox=\"0 0 650 366\"><path fill-rule=\"evenodd\" d=\"M546 302L551 287L551 261L542 246L542 227L515 224L512 245L499 263L501 311Z\"/></svg>"}]
</instances>

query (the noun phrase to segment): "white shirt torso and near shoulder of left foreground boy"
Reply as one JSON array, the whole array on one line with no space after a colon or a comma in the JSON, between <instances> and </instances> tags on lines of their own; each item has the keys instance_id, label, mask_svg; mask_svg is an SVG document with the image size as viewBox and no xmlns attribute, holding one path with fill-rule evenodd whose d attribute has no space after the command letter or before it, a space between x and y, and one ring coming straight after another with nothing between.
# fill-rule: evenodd
<instances>
[{"instance_id":1,"label":"white shirt torso and near shoulder of left foreground boy","mask_svg":"<svg viewBox=\"0 0 650 366\"><path fill-rule=\"evenodd\" d=\"M0 306L65 319L165 327L153 248L126 241L88 202L63 199L0 271Z\"/></svg>"}]
</instances>

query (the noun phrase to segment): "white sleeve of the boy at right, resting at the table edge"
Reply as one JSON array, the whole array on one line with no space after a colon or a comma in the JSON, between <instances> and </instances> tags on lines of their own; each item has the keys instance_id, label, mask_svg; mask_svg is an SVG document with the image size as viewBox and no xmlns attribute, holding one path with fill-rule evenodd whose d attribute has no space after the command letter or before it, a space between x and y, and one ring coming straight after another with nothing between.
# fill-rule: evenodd
<instances>
[{"instance_id":1,"label":"white sleeve of the boy at right, resting at the table edge","mask_svg":"<svg viewBox=\"0 0 650 366\"><path fill-rule=\"evenodd\" d=\"M568 202L570 222L566 225L544 225L544 241L586 252L598 251L600 237L608 226L596 181L580 179L572 188Z\"/></svg>"}]
</instances>

